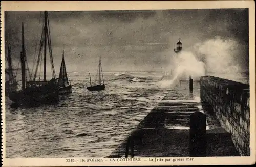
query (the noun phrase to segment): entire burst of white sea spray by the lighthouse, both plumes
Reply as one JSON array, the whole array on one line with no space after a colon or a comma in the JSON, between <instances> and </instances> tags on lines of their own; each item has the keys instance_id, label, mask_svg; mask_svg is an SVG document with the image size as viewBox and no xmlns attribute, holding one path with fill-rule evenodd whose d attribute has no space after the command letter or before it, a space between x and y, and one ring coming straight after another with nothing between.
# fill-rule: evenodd
<instances>
[{"instance_id":1,"label":"entire burst of white sea spray by the lighthouse, both plumes","mask_svg":"<svg viewBox=\"0 0 256 167\"><path fill-rule=\"evenodd\" d=\"M161 80L159 87L170 87L181 79L199 80L202 75L214 75L231 80L241 78L241 67L236 58L240 55L241 47L238 41L216 36L203 42L196 43L191 48L185 48L170 58L172 79Z\"/></svg>"}]
</instances>

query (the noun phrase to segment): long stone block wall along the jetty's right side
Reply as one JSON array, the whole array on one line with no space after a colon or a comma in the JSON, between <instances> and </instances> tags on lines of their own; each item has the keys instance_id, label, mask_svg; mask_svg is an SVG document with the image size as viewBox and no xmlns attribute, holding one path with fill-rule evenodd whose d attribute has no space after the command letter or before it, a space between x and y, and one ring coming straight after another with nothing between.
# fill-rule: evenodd
<instances>
[{"instance_id":1,"label":"long stone block wall along the jetty's right side","mask_svg":"<svg viewBox=\"0 0 256 167\"><path fill-rule=\"evenodd\" d=\"M200 78L201 102L212 107L241 156L250 156L249 92L247 84L214 76Z\"/></svg>"}]
</instances>

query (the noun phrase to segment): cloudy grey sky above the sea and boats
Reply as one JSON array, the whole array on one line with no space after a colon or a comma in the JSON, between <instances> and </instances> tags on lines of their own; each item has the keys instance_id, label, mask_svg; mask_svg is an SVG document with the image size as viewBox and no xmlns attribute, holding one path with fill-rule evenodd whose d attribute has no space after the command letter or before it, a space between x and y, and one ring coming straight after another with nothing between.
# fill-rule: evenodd
<instances>
[{"instance_id":1,"label":"cloudy grey sky above the sea and boats","mask_svg":"<svg viewBox=\"0 0 256 167\"><path fill-rule=\"evenodd\" d=\"M174 47L179 39L185 51L208 61L211 70L215 70L213 64L223 60L228 62L223 66L232 63L242 71L249 68L248 9L48 14L56 73L62 50L68 72L95 71L99 57L103 71L166 71L174 63ZM43 17L44 12L5 12L5 54L9 44L14 66L19 62L24 22L27 60L32 68Z\"/></svg>"}]
</instances>

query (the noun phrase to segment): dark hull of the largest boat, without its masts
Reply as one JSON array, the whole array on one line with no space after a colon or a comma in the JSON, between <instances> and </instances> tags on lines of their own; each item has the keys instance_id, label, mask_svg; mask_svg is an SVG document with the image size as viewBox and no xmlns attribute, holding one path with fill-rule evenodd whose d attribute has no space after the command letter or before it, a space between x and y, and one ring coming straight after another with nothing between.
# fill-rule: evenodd
<instances>
[{"instance_id":1,"label":"dark hull of the largest boat, without its masts","mask_svg":"<svg viewBox=\"0 0 256 167\"><path fill-rule=\"evenodd\" d=\"M27 87L24 90L11 92L9 98L16 106L51 104L59 101L59 90L57 85Z\"/></svg>"}]
</instances>

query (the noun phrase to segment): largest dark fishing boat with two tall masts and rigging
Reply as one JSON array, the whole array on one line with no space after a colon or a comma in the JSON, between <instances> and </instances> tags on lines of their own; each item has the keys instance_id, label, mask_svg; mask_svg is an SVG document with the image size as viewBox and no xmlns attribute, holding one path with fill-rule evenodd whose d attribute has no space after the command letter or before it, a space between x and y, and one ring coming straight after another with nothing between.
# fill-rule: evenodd
<instances>
[{"instance_id":1,"label":"largest dark fishing boat with two tall masts and rigging","mask_svg":"<svg viewBox=\"0 0 256 167\"><path fill-rule=\"evenodd\" d=\"M39 52L37 54L37 63L35 66L34 75L33 70L30 73L24 39L24 25L22 23L22 51L20 53L20 64L22 71L22 89L9 94L10 100L17 106L31 106L35 104L53 103L59 100L59 88L56 79L56 74L53 65L53 56L51 48L51 34L49 26L49 16L47 11L44 12L44 26L42 27L42 34L40 39ZM47 60L47 46L50 57L52 78L46 78L46 60ZM44 54L42 54L44 50ZM44 62L43 78L41 79L41 64ZM40 70L38 72L38 67ZM28 73L27 73L28 71ZM39 76L38 76L39 75ZM29 76L29 77L28 77ZM38 78L39 77L39 78ZM29 78L29 81L27 80Z\"/></svg>"}]
</instances>

